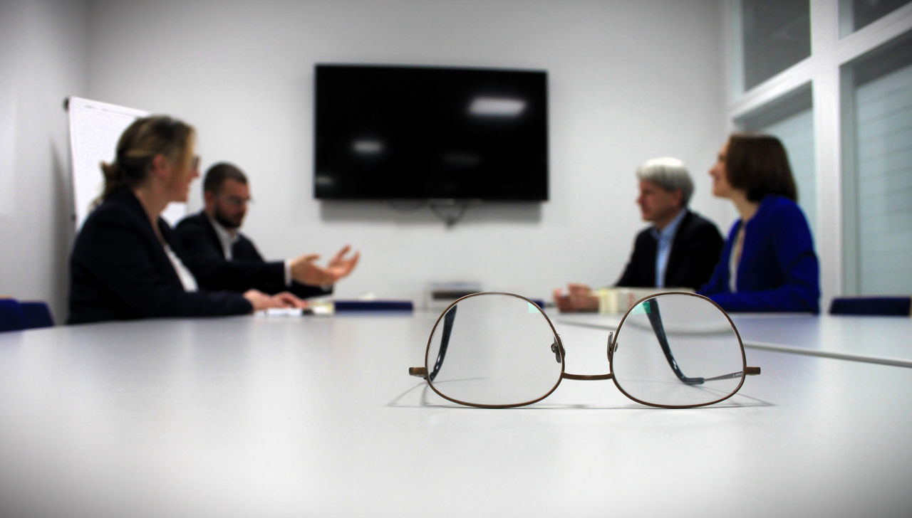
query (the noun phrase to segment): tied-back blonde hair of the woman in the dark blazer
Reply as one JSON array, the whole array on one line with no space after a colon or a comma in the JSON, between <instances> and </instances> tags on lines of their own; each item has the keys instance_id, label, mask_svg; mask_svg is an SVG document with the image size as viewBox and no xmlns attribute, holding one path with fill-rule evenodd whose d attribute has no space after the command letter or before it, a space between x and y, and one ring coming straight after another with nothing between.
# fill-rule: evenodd
<instances>
[{"instance_id":1,"label":"tied-back blonde hair of the woman in the dark blazer","mask_svg":"<svg viewBox=\"0 0 912 518\"><path fill-rule=\"evenodd\" d=\"M190 159L195 131L180 120L152 116L136 119L117 143L117 155L110 164L101 163L105 188L97 202L109 198L122 186L136 187L146 179L152 159L164 155L171 164Z\"/></svg>"}]
</instances>

